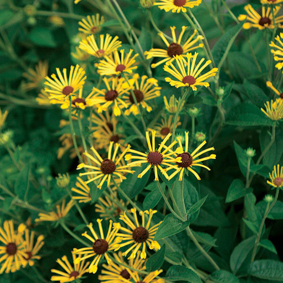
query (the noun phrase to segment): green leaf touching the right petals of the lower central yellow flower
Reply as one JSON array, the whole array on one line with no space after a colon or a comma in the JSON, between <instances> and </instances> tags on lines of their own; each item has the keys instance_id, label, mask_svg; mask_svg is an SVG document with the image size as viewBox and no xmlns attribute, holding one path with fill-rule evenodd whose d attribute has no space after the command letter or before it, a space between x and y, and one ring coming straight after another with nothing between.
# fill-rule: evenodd
<instances>
[{"instance_id":1,"label":"green leaf touching the right petals of the lower central yellow flower","mask_svg":"<svg viewBox=\"0 0 283 283\"><path fill-rule=\"evenodd\" d=\"M155 235L155 240L160 240L178 234L185 230L189 224L189 221L182 222L170 213L165 216L163 222L160 224Z\"/></svg>"}]
</instances>

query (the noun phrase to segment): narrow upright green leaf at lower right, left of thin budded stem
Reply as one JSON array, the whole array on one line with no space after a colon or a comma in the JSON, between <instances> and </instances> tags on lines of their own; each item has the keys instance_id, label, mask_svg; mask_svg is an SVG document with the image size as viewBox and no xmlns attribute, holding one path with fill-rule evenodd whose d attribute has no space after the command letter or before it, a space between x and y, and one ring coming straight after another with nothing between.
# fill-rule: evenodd
<instances>
[{"instance_id":1,"label":"narrow upright green leaf at lower right, left of thin budded stem","mask_svg":"<svg viewBox=\"0 0 283 283\"><path fill-rule=\"evenodd\" d=\"M245 259L253 249L255 242L255 237L252 236L240 244L238 244L230 256L230 268L233 273L237 273L237 271L241 268L242 264L244 263Z\"/></svg>"}]
</instances>

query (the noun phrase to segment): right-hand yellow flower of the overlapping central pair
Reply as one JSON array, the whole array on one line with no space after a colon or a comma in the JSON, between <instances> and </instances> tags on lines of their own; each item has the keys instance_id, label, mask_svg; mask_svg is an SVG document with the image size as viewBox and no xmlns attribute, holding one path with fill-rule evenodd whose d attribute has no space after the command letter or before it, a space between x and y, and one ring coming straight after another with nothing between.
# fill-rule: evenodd
<instances>
[{"instance_id":1,"label":"right-hand yellow flower of the overlapping central pair","mask_svg":"<svg viewBox=\"0 0 283 283\"><path fill-rule=\"evenodd\" d=\"M210 171L210 168L208 166L205 166L203 164L200 164L200 162L205 161L205 160L210 160L210 159L216 159L216 155L210 155L208 157L203 157L200 159L196 159L197 157L203 155L203 153L214 150L214 147L210 147L207 149L204 149L200 152L199 149L207 143L206 141L203 141L192 153L189 152L189 132L185 132L185 149L183 148L182 141L180 137L177 137L179 148L182 148L182 150L179 150L178 155L176 157L181 157L181 162L176 162L176 165L181 169L181 171L175 171L172 173L169 177L169 179L173 178L178 172L179 174L179 181L182 181L183 179L183 174L185 171L185 168L187 168L190 172L192 172L195 177L200 180L200 176L198 173L193 169L194 166L199 166L203 167L205 169L208 169ZM198 153L197 153L198 152ZM169 169L170 170L170 169Z\"/></svg>"}]
</instances>

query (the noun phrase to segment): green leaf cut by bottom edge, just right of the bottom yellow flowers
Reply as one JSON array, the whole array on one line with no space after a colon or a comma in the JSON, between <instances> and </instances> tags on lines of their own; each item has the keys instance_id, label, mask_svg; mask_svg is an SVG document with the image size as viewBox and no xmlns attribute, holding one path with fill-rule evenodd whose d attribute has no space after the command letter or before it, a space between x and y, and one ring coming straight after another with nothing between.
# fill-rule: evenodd
<instances>
[{"instance_id":1,"label":"green leaf cut by bottom edge, just right of the bottom yellow flowers","mask_svg":"<svg viewBox=\"0 0 283 283\"><path fill-rule=\"evenodd\" d=\"M185 266L174 265L171 266L166 273L166 279L170 281L187 281L191 283L201 283L201 279L198 275L192 270Z\"/></svg>"}]
</instances>

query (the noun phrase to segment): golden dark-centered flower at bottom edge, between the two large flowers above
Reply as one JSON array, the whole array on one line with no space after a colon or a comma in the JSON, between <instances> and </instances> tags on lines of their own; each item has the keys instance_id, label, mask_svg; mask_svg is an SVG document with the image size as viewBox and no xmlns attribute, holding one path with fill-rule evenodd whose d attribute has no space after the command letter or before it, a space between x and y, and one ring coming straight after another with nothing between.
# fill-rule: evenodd
<instances>
[{"instance_id":1,"label":"golden dark-centered flower at bottom edge, between the two large flowers above","mask_svg":"<svg viewBox=\"0 0 283 283\"><path fill-rule=\"evenodd\" d=\"M101 275L98 275L98 280L105 283L122 283L130 282L131 279L131 269L123 266L126 264L134 269L143 271L145 270L145 260L140 258L140 251L137 252L135 259L130 259L128 262L125 262L122 252L119 251L118 254L114 253L114 259L117 263L111 262L110 265L102 264ZM121 264L120 264L121 263Z\"/></svg>"}]
</instances>

